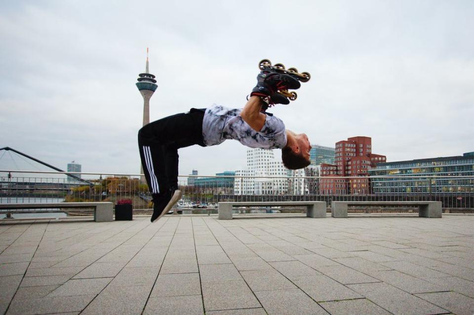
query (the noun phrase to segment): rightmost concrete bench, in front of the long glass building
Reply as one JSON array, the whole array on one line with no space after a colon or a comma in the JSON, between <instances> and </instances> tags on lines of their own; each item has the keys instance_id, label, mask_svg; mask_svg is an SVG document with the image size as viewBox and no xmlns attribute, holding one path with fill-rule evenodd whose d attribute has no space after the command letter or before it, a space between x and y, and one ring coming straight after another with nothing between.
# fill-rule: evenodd
<instances>
[{"instance_id":1,"label":"rightmost concrete bench, in front of the long glass building","mask_svg":"<svg viewBox=\"0 0 474 315\"><path fill-rule=\"evenodd\" d=\"M418 216L427 218L441 217L440 201L333 201L331 215L335 218L347 218L347 207L351 206L417 206Z\"/></svg>"}]
</instances>

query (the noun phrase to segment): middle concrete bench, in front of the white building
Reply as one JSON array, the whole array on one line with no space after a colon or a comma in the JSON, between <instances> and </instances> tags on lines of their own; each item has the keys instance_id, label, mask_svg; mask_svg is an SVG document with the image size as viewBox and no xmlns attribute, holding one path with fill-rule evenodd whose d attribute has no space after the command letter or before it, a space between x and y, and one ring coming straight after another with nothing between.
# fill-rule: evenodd
<instances>
[{"instance_id":1,"label":"middle concrete bench, in front of the white building","mask_svg":"<svg viewBox=\"0 0 474 315\"><path fill-rule=\"evenodd\" d=\"M232 219L232 207L275 207L275 206L306 206L306 216L312 218L326 217L326 202L325 201L235 201L235 202L220 202L219 203L219 220Z\"/></svg>"}]
</instances>

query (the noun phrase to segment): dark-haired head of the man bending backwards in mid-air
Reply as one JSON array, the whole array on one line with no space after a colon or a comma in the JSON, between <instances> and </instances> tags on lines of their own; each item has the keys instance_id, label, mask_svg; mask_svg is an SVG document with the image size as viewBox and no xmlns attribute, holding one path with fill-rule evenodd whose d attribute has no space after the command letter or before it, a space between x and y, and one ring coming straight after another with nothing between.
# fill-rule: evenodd
<instances>
[{"instance_id":1,"label":"dark-haired head of the man bending backwards in mid-air","mask_svg":"<svg viewBox=\"0 0 474 315\"><path fill-rule=\"evenodd\" d=\"M281 159L283 165L289 170L298 170L311 164L310 150L311 144L306 134L294 134L291 132L287 135L287 145L281 149Z\"/></svg>"}]
</instances>

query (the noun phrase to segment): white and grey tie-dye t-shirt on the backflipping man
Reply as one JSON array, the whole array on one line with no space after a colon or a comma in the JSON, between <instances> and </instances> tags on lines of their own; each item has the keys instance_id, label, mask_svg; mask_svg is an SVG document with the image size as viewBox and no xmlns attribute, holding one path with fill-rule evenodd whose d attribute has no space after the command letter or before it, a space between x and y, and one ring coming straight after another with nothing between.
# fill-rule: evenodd
<instances>
[{"instance_id":1,"label":"white and grey tie-dye t-shirt on the backflipping man","mask_svg":"<svg viewBox=\"0 0 474 315\"><path fill-rule=\"evenodd\" d=\"M285 125L267 115L262 130L255 131L240 117L242 109L213 105L202 119L202 137L207 146L234 139L252 148L276 149L286 145Z\"/></svg>"}]
</instances>

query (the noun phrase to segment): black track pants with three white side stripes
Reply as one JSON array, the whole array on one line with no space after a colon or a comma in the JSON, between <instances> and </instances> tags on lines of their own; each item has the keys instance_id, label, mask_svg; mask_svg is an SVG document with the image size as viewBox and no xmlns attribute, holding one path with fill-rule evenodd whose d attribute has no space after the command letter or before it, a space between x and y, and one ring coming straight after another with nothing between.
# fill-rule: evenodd
<instances>
[{"instance_id":1,"label":"black track pants with three white side stripes","mask_svg":"<svg viewBox=\"0 0 474 315\"><path fill-rule=\"evenodd\" d=\"M154 198L178 187L178 149L202 140L205 109L165 117L143 126L138 132L138 147L148 188Z\"/></svg>"}]
</instances>

